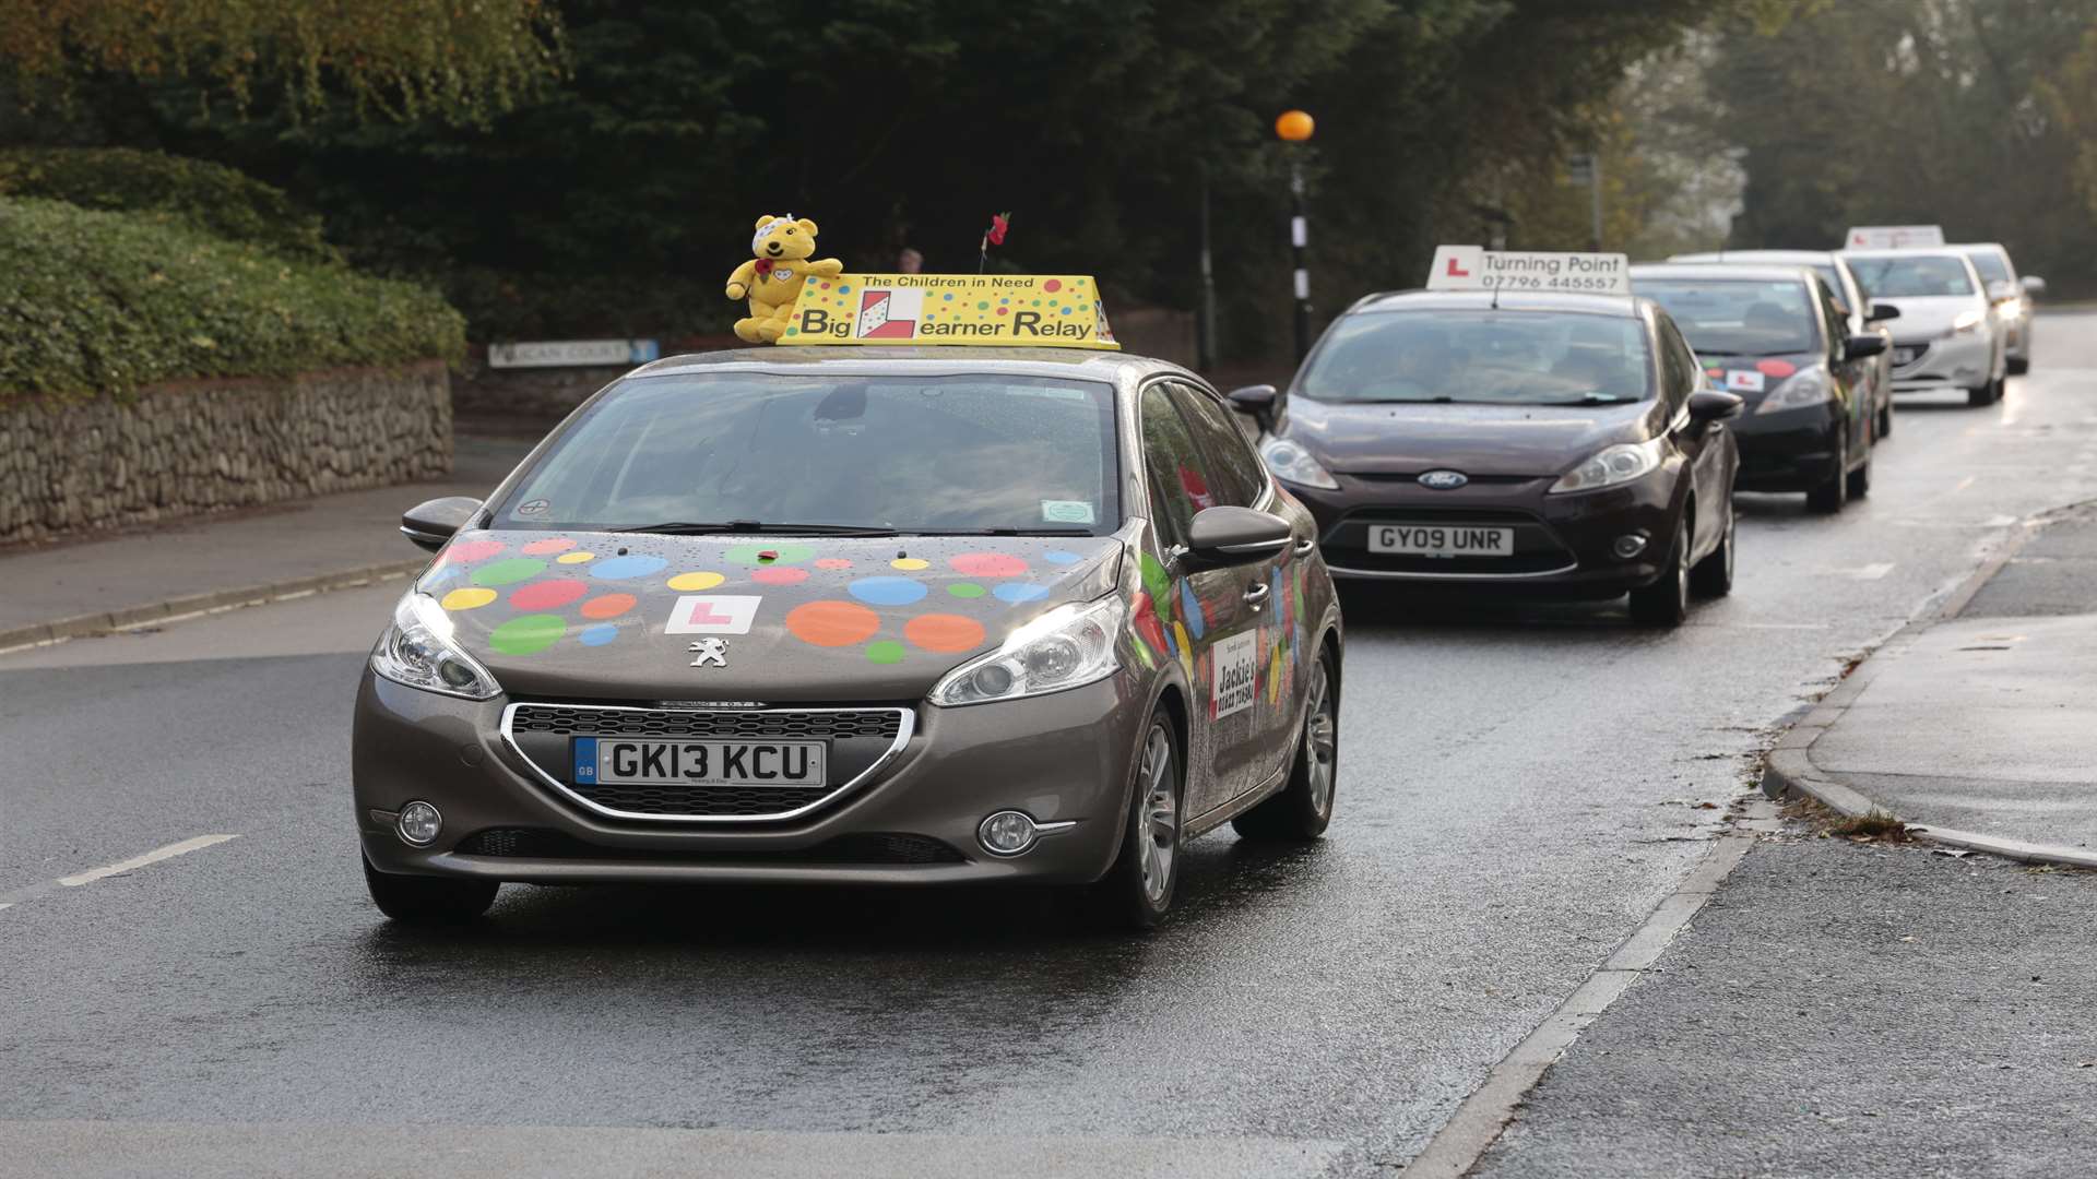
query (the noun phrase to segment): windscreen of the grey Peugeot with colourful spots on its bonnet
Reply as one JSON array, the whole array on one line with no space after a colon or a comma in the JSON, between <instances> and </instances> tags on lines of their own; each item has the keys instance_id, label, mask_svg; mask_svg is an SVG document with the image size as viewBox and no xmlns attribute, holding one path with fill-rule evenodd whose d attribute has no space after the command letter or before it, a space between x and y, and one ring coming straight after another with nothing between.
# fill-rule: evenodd
<instances>
[{"instance_id":1,"label":"windscreen of the grey Peugeot with colourful spots on its bonnet","mask_svg":"<svg viewBox=\"0 0 2097 1179\"><path fill-rule=\"evenodd\" d=\"M1103 382L640 378L562 432L497 508L495 527L1105 535L1120 527L1118 468L1114 386Z\"/></svg>"}]
</instances>

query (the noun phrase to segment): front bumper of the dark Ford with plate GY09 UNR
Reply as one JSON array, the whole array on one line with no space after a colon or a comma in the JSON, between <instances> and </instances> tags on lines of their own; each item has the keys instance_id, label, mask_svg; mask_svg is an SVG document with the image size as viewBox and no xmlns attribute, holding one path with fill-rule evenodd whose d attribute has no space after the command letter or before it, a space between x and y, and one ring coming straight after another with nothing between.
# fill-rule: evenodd
<instances>
[{"instance_id":1,"label":"front bumper of the dark Ford with plate GY09 UNR","mask_svg":"<svg viewBox=\"0 0 2097 1179\"><path fill-rule=\"evenodd\" d=\"M1545 495L1552 478L1474 478L1455 491L1430 491L1409 476L1336 474L1338 491L1290 485L1311 508L1319 548L1336 579L1443 583L1560 598L1613 598L1661 577L1673 537L1673 487L1680 464L1602 491ZM1512 556L1432 558L1369 552L1376 524L1457 524L1514 529ZM1625 533L1646 537L1638 556L1610 545Z\"/></svg>"}]
</instances>

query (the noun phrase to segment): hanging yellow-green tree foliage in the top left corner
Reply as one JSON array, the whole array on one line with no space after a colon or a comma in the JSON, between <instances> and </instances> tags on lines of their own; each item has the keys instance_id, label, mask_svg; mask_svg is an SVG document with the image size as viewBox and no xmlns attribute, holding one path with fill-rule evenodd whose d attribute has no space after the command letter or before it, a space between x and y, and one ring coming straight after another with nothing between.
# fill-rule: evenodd
<instances>
[{"instance_id":1,"label":"hanging yellow-green tree foliage in the top left corner","mask_svg":"<svg viewBox=\"0 0 2097 1179\"><path fill-rule=\"evenodd\" d=\"M36 0L0 13L0 65L25 103L103 78L180 80L291 115L346 97L359 115L487 120L560 71L547 0Z\"/></svg>"}]
</instances>

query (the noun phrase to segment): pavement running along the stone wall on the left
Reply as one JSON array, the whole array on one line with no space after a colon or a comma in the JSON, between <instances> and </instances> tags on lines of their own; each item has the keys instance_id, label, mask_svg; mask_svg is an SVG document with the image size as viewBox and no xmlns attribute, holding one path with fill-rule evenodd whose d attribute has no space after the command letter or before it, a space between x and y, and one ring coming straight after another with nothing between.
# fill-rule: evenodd
<instances>
[{"instance_id":1,"label":"pavement running along the stone wall on the left","mask_svg":"<svg viewBox=\"0 0 2097 1179\"><path fill-rule=\"evenodd\" d=\"M172 615L405 579L428 560L396 531L440 495L487 495L531 441L459 436L453 474L271 508L189 516L113 537L0 550L0 650ZM417 556L421 554L421 556Z\"/></svg>"}]
</instances>

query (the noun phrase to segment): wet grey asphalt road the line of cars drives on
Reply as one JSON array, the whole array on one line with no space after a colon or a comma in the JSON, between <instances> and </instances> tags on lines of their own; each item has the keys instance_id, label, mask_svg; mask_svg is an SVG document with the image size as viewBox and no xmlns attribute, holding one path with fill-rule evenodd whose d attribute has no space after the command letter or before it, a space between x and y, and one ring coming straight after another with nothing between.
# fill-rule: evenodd
<instances>
[{"instance_id":1,"label":"wet grey asphalt road the line of cars drives on","mask_svg":"<svg viewBox=\"0 0 2097 1179\"><path fill-rule=\"evenodd\" d=\"M0 657L0 1173L1388 1173L1787 715L2091 497L2097 317L2051 317L2005 403L1902 405L1868 501L1743 497L1734 596L1680 631L1350 594L1329 837L1195 843L1151 938L830 889L510 887L394 929L348 814L390 590Z\"/></svg>"}]
</instances>

